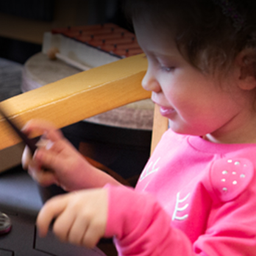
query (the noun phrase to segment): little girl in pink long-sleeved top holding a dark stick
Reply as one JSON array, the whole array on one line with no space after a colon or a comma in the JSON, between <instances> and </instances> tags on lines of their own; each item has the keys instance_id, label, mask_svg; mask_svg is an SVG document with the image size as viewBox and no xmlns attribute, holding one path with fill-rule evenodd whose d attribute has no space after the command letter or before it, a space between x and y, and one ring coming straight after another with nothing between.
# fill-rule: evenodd
<instances>
[{"instance_id":1,"label":"little girl in pink long-sleeved top holding a dark stick","mask_svg":"<svg viewBox=\"0 0 256 256\"><path fill-rule=\"evenodd\" d=\"M119 255L256 255L256 10L244 0L130 0L148 58L142 85L169 119L135 190L89 165L54 126L23 164L41 185L74 191L38 215L41 236ZM52 169L43 172L38 166ZM87 188L87 190L82 190ZM91 189L88 189L91 188Z\"/></svg>"}]
</instances>

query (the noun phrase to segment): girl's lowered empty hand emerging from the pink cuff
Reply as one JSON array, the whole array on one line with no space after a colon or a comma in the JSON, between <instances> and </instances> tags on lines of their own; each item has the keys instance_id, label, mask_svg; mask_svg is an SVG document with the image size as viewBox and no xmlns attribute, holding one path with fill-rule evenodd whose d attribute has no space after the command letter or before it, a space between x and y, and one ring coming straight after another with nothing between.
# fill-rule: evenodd
<instances>
[{"instance_id":1,"label":"girl's lowered empty hand emerging from the pink cuff","mask_svg":"<svg viewBox=\"0 0 256 256\"><path fill-rule=\"evenodd\" d=\"M46 202L38 214L38 233L46 236L49 225L55 219L53 232L60 240L92 248L104 236L107 212L105 189L56 196Z\"/></svg>"}]
</instances>

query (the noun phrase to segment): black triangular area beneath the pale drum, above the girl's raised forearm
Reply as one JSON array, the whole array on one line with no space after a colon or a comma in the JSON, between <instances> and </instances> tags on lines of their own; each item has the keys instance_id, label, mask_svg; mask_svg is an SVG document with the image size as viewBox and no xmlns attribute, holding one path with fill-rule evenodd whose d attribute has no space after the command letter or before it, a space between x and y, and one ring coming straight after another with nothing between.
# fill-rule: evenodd
<instances>
[{"instance_id":1,"label":"black triangular area beneath the pale drum, above the girl's raised forearm","mask_svg":"<svg viewBox=\"0 0 256 256\"><path fill-rule=\"evenodd\" d=\"M151 130L125 129L79 122L62 129L76 148L88 144L87 156L102 163L124 179L137 176L146 165L151 148Z\"/></svg>"}]
</instances>

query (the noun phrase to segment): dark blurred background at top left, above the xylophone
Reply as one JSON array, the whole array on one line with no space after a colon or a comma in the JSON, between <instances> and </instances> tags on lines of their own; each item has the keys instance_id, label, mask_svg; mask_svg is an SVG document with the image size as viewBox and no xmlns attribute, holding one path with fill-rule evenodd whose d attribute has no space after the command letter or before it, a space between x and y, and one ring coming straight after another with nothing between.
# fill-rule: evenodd
<instances>
[{"instance_id":1,"label":"dark blurred background at top left, above the xylophone","mask_svg":"<svg viewBox=\"0 0 256 256\"><path fill-rule=\"evenodd\" d=\"M0 0L0 57L25 63L56 27L115 23L126 28L120 0Z\"/></svg>"}]
</instances>

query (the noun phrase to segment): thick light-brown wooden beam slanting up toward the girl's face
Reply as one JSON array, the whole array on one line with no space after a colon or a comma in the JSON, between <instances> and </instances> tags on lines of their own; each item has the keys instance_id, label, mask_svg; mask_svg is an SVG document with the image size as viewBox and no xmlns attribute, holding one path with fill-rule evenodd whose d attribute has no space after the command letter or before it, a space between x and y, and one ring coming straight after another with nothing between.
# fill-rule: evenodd
<instances>
[{"instance_id":1,"label":"thick light-brown wooden beam slanting up toward the girl's face","mask_svg":"<svg viewBox=\"0 0 256 256\"><path fill-rule=\"evenodd\" d=\"M118 60L66 77L2 101L1 107L22 127L32 118L51 121L58 128L107 112L130 102L150 98L141 80L148 62L144 54ZM40 134L35 134L37 136ZM0 150L20 142L0 119Z\"/></svg>"}]
</instances>

